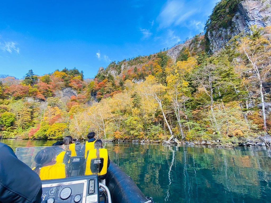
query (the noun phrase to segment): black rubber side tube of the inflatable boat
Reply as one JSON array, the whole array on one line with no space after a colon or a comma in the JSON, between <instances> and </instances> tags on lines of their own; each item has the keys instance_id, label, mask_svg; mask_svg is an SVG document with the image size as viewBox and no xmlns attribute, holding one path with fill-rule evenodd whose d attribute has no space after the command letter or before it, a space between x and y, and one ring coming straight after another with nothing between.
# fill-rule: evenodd
<instances>
[{"instance_id":1,"label":"black rubber side tube of the inflatable boat","mask_svg":"<svg viewBox=\"0 0 271 203\"><path fill-rule=\"evenodd\" d=\"M107 169L106 185L114 203L152 202L115 163L110 162Z\"/></svg>"}]
</instances>

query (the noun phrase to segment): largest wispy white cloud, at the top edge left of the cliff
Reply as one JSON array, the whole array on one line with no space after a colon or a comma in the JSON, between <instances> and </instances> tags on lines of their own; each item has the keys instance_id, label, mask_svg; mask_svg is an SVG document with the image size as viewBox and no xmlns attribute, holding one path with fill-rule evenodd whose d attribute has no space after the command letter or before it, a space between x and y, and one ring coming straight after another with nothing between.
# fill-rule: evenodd
<instances>
[{"instance_id":1,"label":"largest wispy white cloud, at the top edge left of the cliff","mask_svg":"<svg viewBox=\"0 0 271 203\"><path fill-rule=\"evenodd\" d=\"M166 28L171 25L179 25L197 12L193 6L185 5L183 1L167 1L165 7L158 16L159 27Z\"/></svg>"}]
</instances>

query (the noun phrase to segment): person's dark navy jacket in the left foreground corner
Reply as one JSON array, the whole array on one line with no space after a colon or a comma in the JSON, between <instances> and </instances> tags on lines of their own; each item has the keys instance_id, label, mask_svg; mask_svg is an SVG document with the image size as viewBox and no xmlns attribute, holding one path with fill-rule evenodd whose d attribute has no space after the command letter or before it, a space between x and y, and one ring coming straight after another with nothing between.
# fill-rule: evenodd
<instances>
[{"instance_id":1,"label":"person's dark navy jacket in the left foreground corner","mask_svg":"<svg viewBox=\"0 0 271 203\"><path fill-rule=\"evenodd\" d=\"M42 188L38 175L6 144L0 143L0 151L0 202L40 203Z\"/></svg>"}]
</instances>

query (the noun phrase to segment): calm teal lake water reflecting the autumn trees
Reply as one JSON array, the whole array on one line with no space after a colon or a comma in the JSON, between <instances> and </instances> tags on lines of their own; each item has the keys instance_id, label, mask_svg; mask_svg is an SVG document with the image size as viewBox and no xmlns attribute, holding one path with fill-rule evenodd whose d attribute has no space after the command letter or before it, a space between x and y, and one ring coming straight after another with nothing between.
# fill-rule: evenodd
<instances>
[{"instance_id":1,"label":"calm teal lake water reflecting the autumn trees","mask_svg":"<svg viewBox=\"0 0 271 203\"><path fill-rule=\"evenodd\" d=\"M20 146L55 141L0 140ZM120 166L155 202L271 202L271 150L105 143Z\"/></svg>"}]
</instances>

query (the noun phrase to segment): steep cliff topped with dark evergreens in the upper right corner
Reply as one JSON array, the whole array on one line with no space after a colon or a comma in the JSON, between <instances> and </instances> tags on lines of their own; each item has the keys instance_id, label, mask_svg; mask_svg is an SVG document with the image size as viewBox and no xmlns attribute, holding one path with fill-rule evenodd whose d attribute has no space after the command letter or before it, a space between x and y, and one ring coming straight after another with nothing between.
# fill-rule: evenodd
<instances>
[{"instance_id":1,"label":"steep cliff topped with dark evergreens in the upper right corner","mask_svg":"<svg viewBox=\"0 0 271 203\"><path fill-rule=\"evenodd\" d=\"M215 6L205 26L210 50L213 53L219 51L231 38L242 32L251 34L253 25L270 26L270 14L270 0L222 0Z\"/></svg>"}]
</instances>

